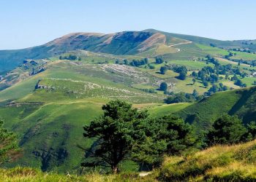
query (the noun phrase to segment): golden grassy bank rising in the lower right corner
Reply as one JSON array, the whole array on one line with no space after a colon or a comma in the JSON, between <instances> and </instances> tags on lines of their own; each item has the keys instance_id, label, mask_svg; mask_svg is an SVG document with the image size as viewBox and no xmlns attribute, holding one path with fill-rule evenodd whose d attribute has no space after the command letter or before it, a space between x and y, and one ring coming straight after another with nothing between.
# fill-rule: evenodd
<instances>
[{"instance_id":1,"label":"golden grassy bank rising in the lower right corner","mask_svg":"<svg viewBox=\"0 0 256 182\"><path fill-rule=\"evenodd\" d=\"M162 181L255 181L256 141L214 146L186 157L167 157Z\"/></svg>"}]
</instances>

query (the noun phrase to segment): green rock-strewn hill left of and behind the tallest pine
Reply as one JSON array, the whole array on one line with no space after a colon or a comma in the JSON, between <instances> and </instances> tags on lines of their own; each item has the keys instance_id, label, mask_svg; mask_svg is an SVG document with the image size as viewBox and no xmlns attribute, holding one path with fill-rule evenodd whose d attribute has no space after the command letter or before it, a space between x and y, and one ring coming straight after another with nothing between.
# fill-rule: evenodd
<instances>
[{"instance_id":1,"label":"green rock-strewn hill left of and behind the tallest pine","mask_svg":"<svg viewBox=\"0 0 256 182\"><path fill-rule=\"evenodd\" d=\"M1 119L7 128L18 133L24 151L23 157L12 166L58 172L75 170L84 157L76 145L89 147L92 143L83 138L83 126L101 114L102 104L116 98L140 104L162 103L162 94L129 87L142 82L144 74L127 76L102 66L56 61L50 63L46 71L0 92L0 100L17 103L0 106ZM35 90L37 82L55 90ZM130 162L125 166L126 169L137 167Z\"/></svg>"}]
</instances>

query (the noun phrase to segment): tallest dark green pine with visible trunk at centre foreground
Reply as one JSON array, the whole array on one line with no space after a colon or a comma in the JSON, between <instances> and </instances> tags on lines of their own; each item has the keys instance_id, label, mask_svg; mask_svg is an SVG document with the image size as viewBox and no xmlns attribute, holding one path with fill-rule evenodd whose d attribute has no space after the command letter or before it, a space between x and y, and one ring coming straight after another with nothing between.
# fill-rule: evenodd
<instances>
[{"instance_id":1,"label":"tallest dark green pine with visible trunk at centre foreground","mask_svg":"<svg viewBox=\"0 0 256 182\"><path fill-rule=\"evenodd\" d=\"M148 114L138 112L132 104L121 100L110 101L102 110L102 116L83 127L83 136L97 138L97 141L90 151L93 162L84 162L82 166L108 166L117 173L118 164L131 154L134 146L146 140L140 127Z\"/></svg>"}]
</instances>

